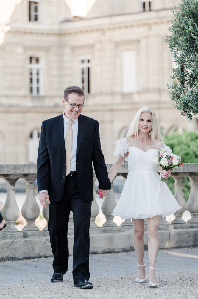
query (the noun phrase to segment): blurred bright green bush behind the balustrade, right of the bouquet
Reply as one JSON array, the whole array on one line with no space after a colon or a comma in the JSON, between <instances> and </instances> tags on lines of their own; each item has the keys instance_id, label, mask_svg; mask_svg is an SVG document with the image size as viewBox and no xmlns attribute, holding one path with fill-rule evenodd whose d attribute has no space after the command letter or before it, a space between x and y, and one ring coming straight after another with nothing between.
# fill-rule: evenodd
<instances>
[{"instance_id":1,"label":"blurred bright green bush behind the balustrade, right of the bouquet","mask_svg":"<svg viewBox=\"0 0 198 299\"><path fill-rule=\"evenodd\" d=\"M198 163L198 131L184 131L182 134L178 134L178 132L169 133L163 136L163 141L172 149L174 154L182 155L183 163ZM183 180L183 197L186 202L190 194L189 183L190 179L185 176ZM166 179L166 184L174 194L174 179L172 176Z\"/></svg>"}]
</instances>

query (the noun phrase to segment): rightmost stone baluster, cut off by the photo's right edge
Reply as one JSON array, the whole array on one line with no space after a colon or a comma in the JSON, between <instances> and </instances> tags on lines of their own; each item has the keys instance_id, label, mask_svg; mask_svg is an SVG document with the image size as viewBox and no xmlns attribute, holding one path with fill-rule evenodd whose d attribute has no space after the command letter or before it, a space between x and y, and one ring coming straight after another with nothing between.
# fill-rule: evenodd
<instances>
[{"instance_id":1,"label":"rightmost stone baluster, cut off by the photo's right edge","mask_svg":"<svg viewBox=\"0 0 198 299\"><path fill-rule=\"evenodd\" d=\"M188 220L191 228L198 227L198 173L190 173L191 191L186 204L188 211L191 213L191 219Z\"/></svg>"}]
</instances>

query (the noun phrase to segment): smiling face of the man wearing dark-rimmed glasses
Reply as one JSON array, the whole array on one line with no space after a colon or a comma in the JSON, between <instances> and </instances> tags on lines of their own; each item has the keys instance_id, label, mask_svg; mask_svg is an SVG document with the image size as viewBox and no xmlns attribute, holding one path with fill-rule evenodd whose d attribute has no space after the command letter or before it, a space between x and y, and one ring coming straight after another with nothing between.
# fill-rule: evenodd
<instances>
[{"instance_id":1,"label":"smiling face of the man wearing dark-rimmed glasses","mask_svg":"<svg viewBox=\"0 0 198 299\"><path fill-rule=\"evenodd\" d=\"M68 102L70 104L83 105L83 100L84 100L83 96L79 96L75 93L68 95ZM63 101L63 106L65 106L65 116L69 119L78 118L80 113L82 112L82 108L79 109L78 106L72 108L65 99L63 99L62 101Z\"/></svg>"}]
</instances>

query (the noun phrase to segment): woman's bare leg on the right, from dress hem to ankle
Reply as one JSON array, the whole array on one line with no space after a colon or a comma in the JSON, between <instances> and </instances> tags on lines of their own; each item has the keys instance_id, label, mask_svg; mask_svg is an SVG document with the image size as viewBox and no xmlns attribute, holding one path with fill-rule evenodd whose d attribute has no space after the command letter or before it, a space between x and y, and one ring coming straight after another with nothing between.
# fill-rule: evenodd
<instances>
[{"instance_id":1,"label":"woman's bare leg on the right, from dress hem to ankle","mask_svg":"<svg viewBox=\"0 0 198 299\"><path fill-rule=\"evenodd\" d=\"M161 216L155 216L152 219L148 218L147 234L149 238L148 242L148 254L150 267L155 268L155 262L159 250L159 239L158 239L158 226L160 223ZM149 269L149 281L156 282L155 270Z\"/></svg>"}]
</instances>

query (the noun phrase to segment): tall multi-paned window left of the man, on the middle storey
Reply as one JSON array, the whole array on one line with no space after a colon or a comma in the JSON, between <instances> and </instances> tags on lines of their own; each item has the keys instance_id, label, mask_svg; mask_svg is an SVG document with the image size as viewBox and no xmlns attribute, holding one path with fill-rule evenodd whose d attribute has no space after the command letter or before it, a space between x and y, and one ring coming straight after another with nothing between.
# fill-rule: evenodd
<instances>
[{"instance_id":1,"label":"tall multi-paned window left of the man, on the middle storey","mask_svg":"<svg viewBox=\"0 0 198 299\"><path fill-rule=\"evenodd\" d=\"M29 58L29 92L32 95L42 95L41 58Z\"/></svg>"}]
</instances>

